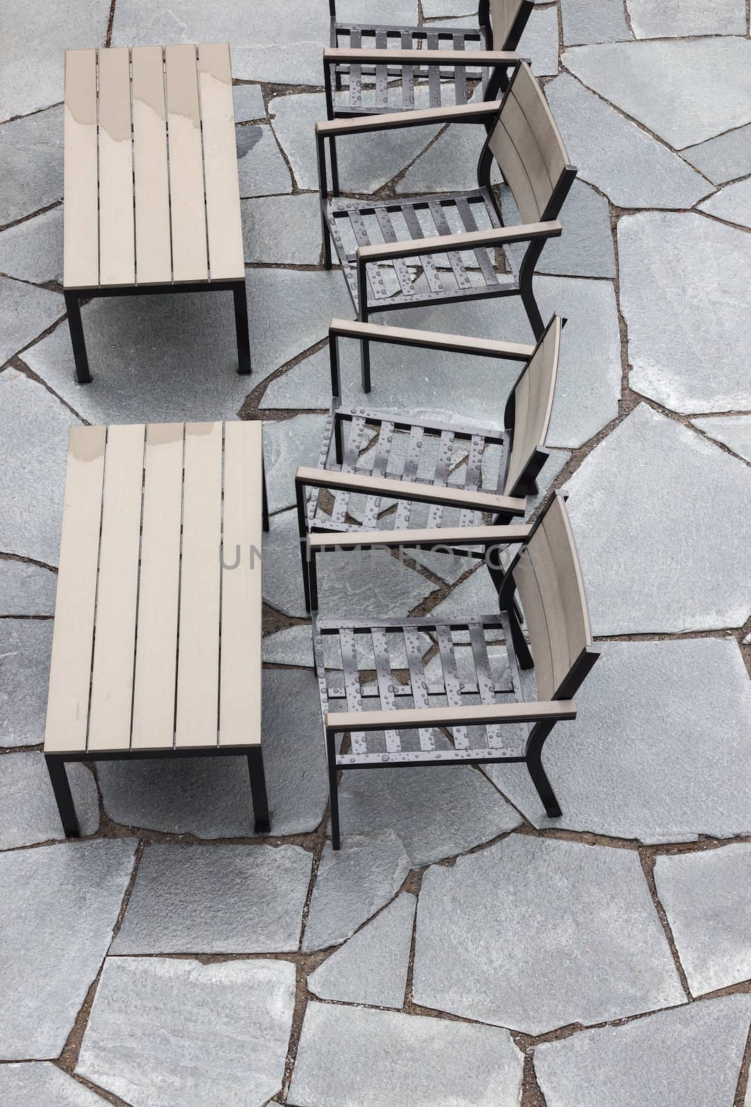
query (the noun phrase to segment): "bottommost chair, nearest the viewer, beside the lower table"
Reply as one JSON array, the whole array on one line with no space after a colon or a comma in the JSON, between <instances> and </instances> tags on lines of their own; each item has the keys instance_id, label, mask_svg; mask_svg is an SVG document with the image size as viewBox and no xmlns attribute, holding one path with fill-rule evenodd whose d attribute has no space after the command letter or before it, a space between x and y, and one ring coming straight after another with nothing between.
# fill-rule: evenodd
<instances>
[{"instance_id":1,"label":"bottommost chair, nearest the viewer, beside the lower table","mask_svg":"<svg viewBox=\"0 0 751 1107\"><path fill-rule=\"evenodd\" d=\"M494 532L493 532L494 531ZM412 536L411 536L412 537ZM441 531L433 535L441 541ZM465 530L463 541L472 541ZM467 614L451 622L435 618L338 622L313 617L318 676L331 799L331 844L340 847L339 769L392 765L456 765L524 762L549 818L560 807L542 763L542 751L558 720L575 718L572 700L598 652L593 650L587 603L564 497L553 494L531 527L477 528L485 563L498 593L497 614ZM428 544L430 537L425 536ZM504 570L495 550L519 549ZM485 571L483 568L479 572ZM515 598L526 620L522 632ZM470 679L455 652L459 632L470 638ZM423 664L420 634L438 643L438 662ZM493 662L487 637L503 635L505 661ZM336 668L327 676L323 639L333 637ZM370 640L375 681L363 683L358 641ZM338 646L338 649L337 649ZM390 658L407 651L408 671ZM394 652L392 652L392 650ZM464 661L464 658L462 659ZM440 666L440 668L439 668ZM536 695L522 686L519 670L535 670ZM496 670L495 672L493 670ZM477 702L480 701L480 702ZM508 727L508 724L521 724ZM338 742L339 736L349 736Z\"/></svg>"}]
</instances>

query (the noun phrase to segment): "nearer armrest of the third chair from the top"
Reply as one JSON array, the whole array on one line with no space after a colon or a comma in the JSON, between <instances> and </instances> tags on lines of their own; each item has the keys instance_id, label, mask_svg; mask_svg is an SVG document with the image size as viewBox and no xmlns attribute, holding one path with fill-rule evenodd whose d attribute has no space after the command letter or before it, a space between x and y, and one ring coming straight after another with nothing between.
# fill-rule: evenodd
<instances>
[{"instance_id":1,"label":"nearer armrest of the third chair from the top","mask_svg":"<svg viewBox=\"0 0 751 1107\"><path fill-rule=\"evenodd\" d=\"M510 515L524 515L526 508L525 499L512 496L469 492L465 488L441 488L436 485L421 484L419 480L394 480L389 477L371 477L359 473L340 473L338 469L313 469L300 466L295 474L295 484L311 488L333 488L337 492L388 496L390 499L411 499L422 504L443 504L474 511L505 511Z\"/></svg>"}]
</instances>

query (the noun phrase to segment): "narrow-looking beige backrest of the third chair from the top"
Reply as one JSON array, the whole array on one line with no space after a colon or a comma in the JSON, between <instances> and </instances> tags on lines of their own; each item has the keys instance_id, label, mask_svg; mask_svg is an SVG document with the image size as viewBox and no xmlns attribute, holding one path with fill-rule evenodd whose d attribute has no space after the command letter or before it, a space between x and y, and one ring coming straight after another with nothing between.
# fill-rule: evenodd
<instances>
[{"instance_id":1,"label":"narrow-looking beige backrest of the third chair from the top","mask_svg":"<svg viewBox=\"0 0 751 1107\"><path fill-rule=\"evenodd\" d=\"M563 324L560 315L549 321L506 401L504 422L510 448L503 488L498 489L504 496L527 496L547 459L544 446L553 412Z\"/></svg>"}]
</instances>

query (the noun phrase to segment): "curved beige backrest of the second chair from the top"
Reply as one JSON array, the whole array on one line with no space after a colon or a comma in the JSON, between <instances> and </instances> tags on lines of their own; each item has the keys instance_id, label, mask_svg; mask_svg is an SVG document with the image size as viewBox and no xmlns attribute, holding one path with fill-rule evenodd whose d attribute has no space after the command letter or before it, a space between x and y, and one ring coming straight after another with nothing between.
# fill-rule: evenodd
<instances>
[{"instance_id":1,"label":"curved beige backrest of the second chair from the top","mask_svg":"<svg viewBox=\"0 0 751 1107\"><path fill-rule=\"evenodd\" d=\"M551 201L568 156L543 90L526 62L514 73L488 146L514 194L522 223L554 219L563 196L553 205Z\"/></svg>"}]
</instances>

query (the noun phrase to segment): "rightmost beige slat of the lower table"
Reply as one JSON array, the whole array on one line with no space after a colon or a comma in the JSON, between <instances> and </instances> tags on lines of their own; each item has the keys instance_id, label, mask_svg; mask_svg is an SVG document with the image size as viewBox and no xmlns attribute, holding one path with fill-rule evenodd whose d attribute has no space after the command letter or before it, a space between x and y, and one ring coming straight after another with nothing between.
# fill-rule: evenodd
<instances>
[{"instance_id":1,"label":"rightmost beige slat of the lower table","mask_svg":"<svg viewBox=\"0 0 751 1107\"><path fill-rule=\"evenodd\" d=\"M219 744L260 743L261 424L227 423L224 451ZM235 565L239 551L239 563Z\"/></svg>"}]
</instances>

